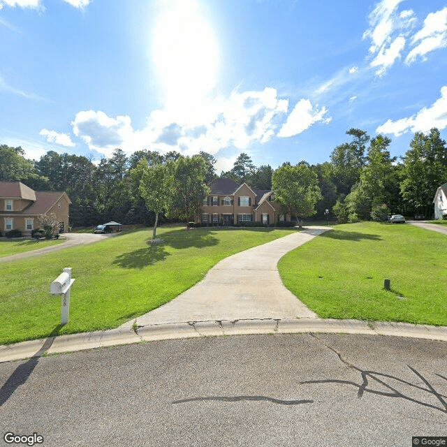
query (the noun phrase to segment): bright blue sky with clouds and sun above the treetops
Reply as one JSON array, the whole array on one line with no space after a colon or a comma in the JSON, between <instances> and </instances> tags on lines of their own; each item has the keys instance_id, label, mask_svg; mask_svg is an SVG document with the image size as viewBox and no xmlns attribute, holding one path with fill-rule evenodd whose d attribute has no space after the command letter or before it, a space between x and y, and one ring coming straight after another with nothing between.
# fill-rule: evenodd
<instances>
[{"instance_id":1,"label":"bright blue sky with clouds and sun above the treetops","mask_svg":"<svg viewBox=\"0 0 447 447\"><path fill-rule=\"evenodd\" d=\"M447 139L447 1L0 0L0 144L217 172L330 160L362 129Z\"/></svg>"}]
</instances>

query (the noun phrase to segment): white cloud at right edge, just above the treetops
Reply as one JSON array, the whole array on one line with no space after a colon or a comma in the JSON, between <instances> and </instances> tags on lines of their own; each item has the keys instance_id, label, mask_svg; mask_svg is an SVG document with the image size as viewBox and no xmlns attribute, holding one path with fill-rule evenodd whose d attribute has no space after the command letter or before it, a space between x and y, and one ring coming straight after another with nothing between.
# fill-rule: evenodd
<instances>
[{"instance_id":1,"label":"white cloud at right edge, just above the treetops","mask_svg":"<svg viewBox=\"0 0 447 447\"><path fill-rule=\"evenodd\" d=\"M376 129L377 133L388 133L400 136L402 133L428 132L432 127L439 130L447 127L447 86L441 88L441 98L437 99L430 108L423 108L411 117L388 121Z\"/></svg>"}]
</instances>

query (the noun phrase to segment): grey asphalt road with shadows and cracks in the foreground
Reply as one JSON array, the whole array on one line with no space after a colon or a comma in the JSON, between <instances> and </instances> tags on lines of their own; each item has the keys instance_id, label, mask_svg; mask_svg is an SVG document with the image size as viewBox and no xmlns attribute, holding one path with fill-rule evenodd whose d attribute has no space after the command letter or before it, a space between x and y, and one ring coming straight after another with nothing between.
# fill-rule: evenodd
<instances>
[{"instance_id":1,"label":"grey asphalt road with shadows and cracks in the foreground","mask_svg":"<svg viewBox=\"0 0 447 447\"><path fill-rule=\"evenodd\" d=\"M0 386L4 445L17 445L6 432L119 447L409 447L412 436L447 436L447 345L423 339L151 342L2 363Z\"/></svg>"}]
</instances>

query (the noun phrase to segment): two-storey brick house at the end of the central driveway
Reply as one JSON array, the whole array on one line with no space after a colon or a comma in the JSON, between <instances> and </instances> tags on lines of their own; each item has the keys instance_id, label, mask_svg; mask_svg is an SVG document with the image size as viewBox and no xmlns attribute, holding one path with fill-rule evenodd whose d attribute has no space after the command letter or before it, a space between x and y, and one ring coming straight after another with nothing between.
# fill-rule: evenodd
<instances>
[{"instance_id":1,"label":"two-storey brick house at the end of the central driveway","mask_svg":"<svg viewBox=\"0 0 447 447\"><path fill-rule=\"evenodd\" d=\"M265 225L291 221L274 201L273 191L251 189L247 183L239 184L232 179L215 179L208 186L211 191L203 200L196 222L230 226L254 221Z\"/></svg>"}]
</instances>

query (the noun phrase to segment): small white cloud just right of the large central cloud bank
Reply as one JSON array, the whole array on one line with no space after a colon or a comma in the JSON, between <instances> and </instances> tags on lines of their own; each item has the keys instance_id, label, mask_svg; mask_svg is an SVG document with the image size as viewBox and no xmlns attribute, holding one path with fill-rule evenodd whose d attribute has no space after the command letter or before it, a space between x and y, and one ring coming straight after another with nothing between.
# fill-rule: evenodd
<instances>
[{"instance_id":1,"label":"small white cloud just right of the large central cloud bank","mask_svg":"<svg viewBox=\"0 0 447 447\"><path fill-rule=\"evenodd\" d=\"M288 115L278 136L284 138L298 135L298 133L309 129L316 122L327 124L332 119L332 117L325 117L327 113L328 110L325 107L318 110L318 105L313 107L309 99L300 99L291 111L291 114Z\"/></svg>"}]
</instances>

